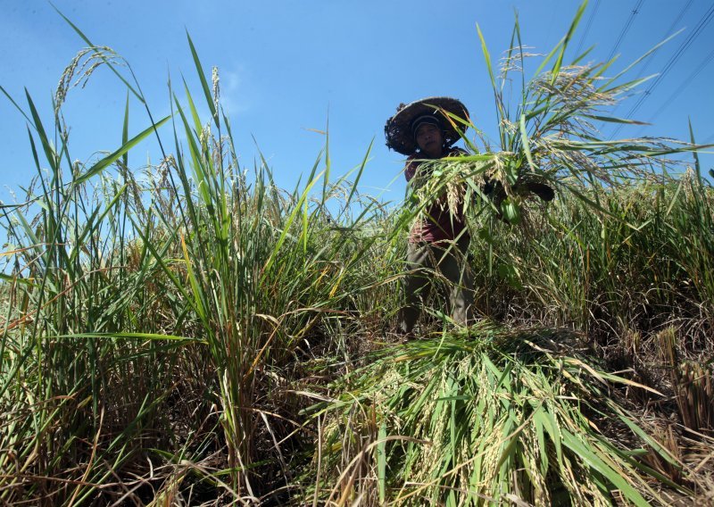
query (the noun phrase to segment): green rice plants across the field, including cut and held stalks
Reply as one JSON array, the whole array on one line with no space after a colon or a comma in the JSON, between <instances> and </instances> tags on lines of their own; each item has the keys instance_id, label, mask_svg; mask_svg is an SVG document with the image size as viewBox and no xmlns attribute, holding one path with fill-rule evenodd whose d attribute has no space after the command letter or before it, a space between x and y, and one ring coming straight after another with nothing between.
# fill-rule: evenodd
<instances>
[{"instance_id":1,"label":"green rice plants across the field, including cut and held stalks","mask_svg":"<svg viewBox=\"0 0 714 507\"><path fill-rule=\"evenodd\" d=\"M587 122L637 83L563 64L581 13L512 115L491 72L500 146L469 139L407 209L358 191L367 155L331 180L327 143L293 191L241 167L190 38L210 119L172 91L170 117L130 137L127 106L120 148L71 162L82 58L145 104L78 29L91 50L51 127L19 106L37 178L2 208L0 501L710 501L714 188L696 160L671 175L693 144L596 137ZM162 162L131 170L147 137ZM552 204L519 191L534 180ZM464 186L480 321L435 307L402 343L406 229Z\"/></svg>"}]
</instances>

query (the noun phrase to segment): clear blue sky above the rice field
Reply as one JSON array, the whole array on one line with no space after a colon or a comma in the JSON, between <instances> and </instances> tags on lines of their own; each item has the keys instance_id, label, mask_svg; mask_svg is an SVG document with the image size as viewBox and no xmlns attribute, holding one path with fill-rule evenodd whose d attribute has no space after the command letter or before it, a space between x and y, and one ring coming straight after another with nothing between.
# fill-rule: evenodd
<instances>
[{"instance_id":1,"label":"clear blue sky above the rice field","mask_svg":"<svg viewBox=\"0 0 714 507\"><path fill-rule=\"evenodd\" d=\"M404 188L399 175L403 156L387 150L384 140L386 119L397 104L423 96L458 97L469 107L472 120L494 137L493 94L476 23L494 62L509 46L514 10L519 12L524 43L535 52L547 53L567 31L579 2L56 0L54 4L96 45L110 46L129 61L155 117L169 112L169 78L179 88L185 76L195 98L202 96L187 45L188 30L205 71L210 74L213 65L220 70L223 105L245 167L253 166L257 154L254 137L278 185L292 187L301 173L311 170L325 142L311 129L324 130L329 119L333 173L344 174L359 164L374 139L361 188L398 201ZM714 22L709 22L713 11L711 0L591 0L569 55L591 45L596 46L591 61L621 54L610 74L669 31L685 29L646 63L644 75L668 69L635 111L636 119L652 120L653 125L622 129L619 137L688 139L689 117L697 140L714 142ZM43 120L51 124L55 87L85 44L45 1L0 0L0 12L0 85L23 106L23 87L27 87ZM698 26L698 35L683 47ZM531 62L528 76L535 67L537 62ZM649 86L643 85L640 93ZM627 116L641 97L627 99L616 115ZM97 152L120 145L125 98L125 88L107 68L99 69L86 88L71 90L64 112L71 126L72 159L89 162ZM183 93L179 99L185 103ZM132 98L130 134L148 125L145 112ZM606 135L611 131L611 126L603 128ZM164 139L171 138L167 128L163 134ZM8 189L27 185L36 171L25 121L4 96L0 96L0 139L0 199L7 203L12 201ZM132 152L129 165L140 168L147 160L160 158L155 145L147 143ZM702 162L704 170L714 166L712 155L702 156Z\"/></svg>"}]
</instances>

